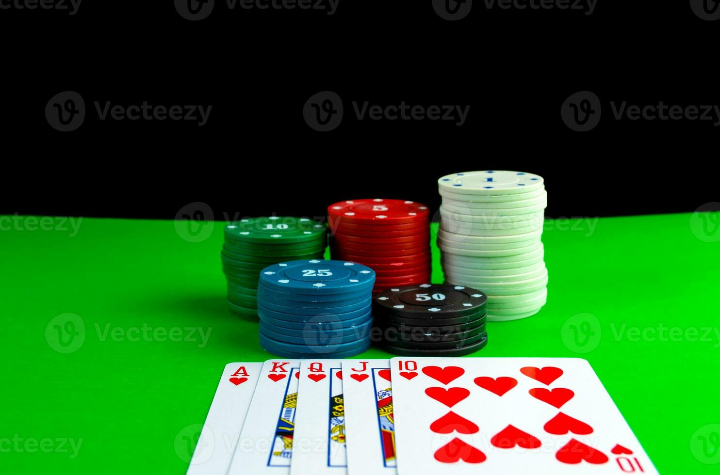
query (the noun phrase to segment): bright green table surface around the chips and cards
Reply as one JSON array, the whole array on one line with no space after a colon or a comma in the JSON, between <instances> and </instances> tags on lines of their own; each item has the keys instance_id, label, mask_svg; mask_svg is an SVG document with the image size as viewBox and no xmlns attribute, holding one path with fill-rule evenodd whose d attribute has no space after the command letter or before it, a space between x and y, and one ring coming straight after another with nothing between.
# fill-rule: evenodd
<instances>
[{"instance_id":1,"label":"bright green table surface around the chips and cards","mask_svg":"<svg viewBox=\"0 0 720 475\"><path fill-rule=\"evenodd\" d=\"M0 224L0 472L184 473L225 363L272 357L226 307L224 223ZM547 221L546 306L472 356L586 358L661 473L717 473L720 243L700 224ZM60 340L67 313L84 335Z\"/></svg>"}]
</instances>

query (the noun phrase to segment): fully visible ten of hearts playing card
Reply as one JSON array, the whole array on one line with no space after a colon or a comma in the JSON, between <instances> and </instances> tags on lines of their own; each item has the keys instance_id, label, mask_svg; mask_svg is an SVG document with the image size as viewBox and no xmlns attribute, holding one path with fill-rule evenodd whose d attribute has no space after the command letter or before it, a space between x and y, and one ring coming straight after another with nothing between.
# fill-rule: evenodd
<instances>
[{"instance_id":1,"label":"fully visible ten of hearts playing card","mask_svg":"<svg viewBox=\"0 0 720 475\"><path fill-rule=\"evenodd\" d=\"M657 474L580 358L392 358L398 474Z\"/></svg>"}]
</instances>

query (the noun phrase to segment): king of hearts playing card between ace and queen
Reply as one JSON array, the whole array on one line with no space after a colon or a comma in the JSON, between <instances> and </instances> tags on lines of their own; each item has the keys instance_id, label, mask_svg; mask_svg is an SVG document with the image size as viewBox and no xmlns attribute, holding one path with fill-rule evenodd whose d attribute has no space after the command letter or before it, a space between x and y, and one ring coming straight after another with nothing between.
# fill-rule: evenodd
<instances>
[{"instance_id":1,"label":"king of hearts playing card between ace and queen","mask_svg":"<svg viewBox=\"0 0 720 475\"><path fill-rule=\"evenodd\" d=\"M229 475L289 474L300 361L263 364Z\"/></svg>"}]
</instances>

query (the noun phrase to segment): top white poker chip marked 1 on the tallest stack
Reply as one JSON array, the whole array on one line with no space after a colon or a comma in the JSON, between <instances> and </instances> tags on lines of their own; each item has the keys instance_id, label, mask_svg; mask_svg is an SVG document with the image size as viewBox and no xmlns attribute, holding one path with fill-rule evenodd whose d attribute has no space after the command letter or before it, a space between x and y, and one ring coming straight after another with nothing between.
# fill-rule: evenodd
<instances>
[{"instance_id":1,"label":"top white poker chip marked 1 on the tallest stack","mask_svg":"<svg viewBox=\"0 0 720 475\"><path fill-rule=\"evenodd\" d=\"M544 188L543 178L534 173L507 170L466 171L438 179L438 186L455 194L522 194Z\"/></svg>"}]
</instances>

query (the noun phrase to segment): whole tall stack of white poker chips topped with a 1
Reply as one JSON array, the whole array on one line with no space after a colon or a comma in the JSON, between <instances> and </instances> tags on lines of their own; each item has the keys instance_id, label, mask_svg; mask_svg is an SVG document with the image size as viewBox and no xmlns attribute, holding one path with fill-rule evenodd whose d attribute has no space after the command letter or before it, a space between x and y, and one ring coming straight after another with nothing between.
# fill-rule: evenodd
<instances>
[{"instance_id":1,"label":"whole tall stack of white poker chips topped with a 1","mask_svg":"<svg viewBox=\"0 0 720 475\"><path fill-rule=\"evenodd\" d=\"M487 294L487 320L539 312L548 274L541 241L547 192L541 176L469 171L438 180L438 248L448 284Z\"/></svg>"}]
</instances>

